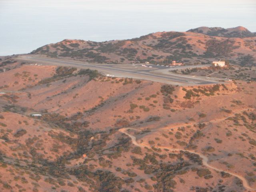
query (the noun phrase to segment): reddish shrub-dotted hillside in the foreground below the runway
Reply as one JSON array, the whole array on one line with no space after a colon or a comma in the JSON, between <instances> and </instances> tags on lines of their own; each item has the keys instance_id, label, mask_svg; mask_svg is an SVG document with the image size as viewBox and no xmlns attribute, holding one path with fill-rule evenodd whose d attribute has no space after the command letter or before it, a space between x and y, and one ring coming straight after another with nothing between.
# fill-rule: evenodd
<instances>
[{"instance_id":1,"label":"reddish shrub-dotted hillside in the foreground below the runway","mask_svg":"<svg viewBox=\"0 0 256 192\"><path fill-rule=\"evenodd\" d=\"M11 65L0 73L0 191L256 191L255 82Z\"/></svg>"}]
</instances>

